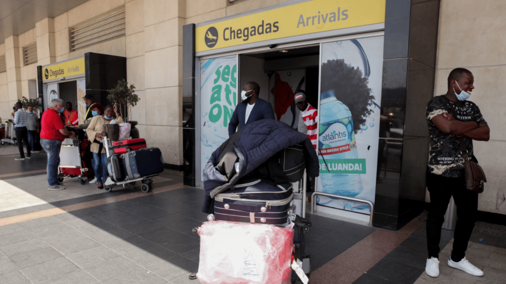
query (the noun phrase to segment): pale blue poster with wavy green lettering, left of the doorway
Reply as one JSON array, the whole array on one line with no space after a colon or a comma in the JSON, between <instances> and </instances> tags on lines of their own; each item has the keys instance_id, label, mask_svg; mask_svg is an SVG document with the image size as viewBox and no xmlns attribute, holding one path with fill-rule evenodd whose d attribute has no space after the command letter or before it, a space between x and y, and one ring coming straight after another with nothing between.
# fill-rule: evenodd
<instances>
[{"instance_id":1,"label":"pale blue poster with wavy green lettering, left of the doorway","mask_svg":"<svg viewBox=\"0 0 506 284\"><path fill-rule=\"evenodd\" d=\"M228 123L237 103L237 57L200 61L201 169L228 139ZM203 180L202 172L200 180Z\"/></svg>"}]
</instances>

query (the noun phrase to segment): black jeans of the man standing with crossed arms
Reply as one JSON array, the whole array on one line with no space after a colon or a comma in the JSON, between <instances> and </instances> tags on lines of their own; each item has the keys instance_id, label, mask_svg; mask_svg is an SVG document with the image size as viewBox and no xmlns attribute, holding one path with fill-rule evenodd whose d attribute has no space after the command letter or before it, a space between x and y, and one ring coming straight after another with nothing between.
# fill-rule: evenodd
<instances>
[{"instance_id":1,"label":"black jeans of the man standing with crossed arms","mask_svg":"<svg viewBox=\"0 0 506 284\"><path fill-rule=\"evenodd\" d=\"M453 196L457 206L457 224L453 233L451 259L458 262L466 255L469 238L476 223L478 193L466 189L464 177L444 177L429 172L427 172L427 188L431 196L427 218L429 258L438 258L444 214Z\"/></svg>"}]
</instances>

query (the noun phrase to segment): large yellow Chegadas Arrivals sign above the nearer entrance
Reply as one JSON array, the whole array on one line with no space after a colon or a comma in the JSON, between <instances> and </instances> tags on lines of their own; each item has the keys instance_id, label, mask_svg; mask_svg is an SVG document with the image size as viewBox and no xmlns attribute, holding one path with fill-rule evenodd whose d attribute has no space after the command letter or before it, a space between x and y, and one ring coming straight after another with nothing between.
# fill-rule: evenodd
<instances>
[{"instance_id":1,"label":"large yellow Chegadas Arrivals sign above the nearer entrance","mask_svg":"<svg viewBox=\"0 0 506 284\"><path fill-rule=\"evenodd\" d=\"M386 0L313 0L195 30L196 52L385 22Z\"/></svg>"}]
</instances>

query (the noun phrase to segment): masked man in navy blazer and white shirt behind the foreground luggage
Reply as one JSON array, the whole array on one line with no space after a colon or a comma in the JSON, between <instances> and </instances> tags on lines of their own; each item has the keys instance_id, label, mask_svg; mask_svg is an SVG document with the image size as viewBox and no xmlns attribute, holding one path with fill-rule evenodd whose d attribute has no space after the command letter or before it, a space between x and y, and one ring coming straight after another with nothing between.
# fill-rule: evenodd
<instances>
[{"instance_id":1,"label":"masked man in navy blazer and white shirt behind the foreground luggage","mask_svg":"<svg viewBox=\"0 0 506 284\"><path fill-rule=\"evenodd\" d=\"M260 99L260 86L256 82L247 82L242 88L242 102L237 105L228 124L228 136L232 136L237 130L245 125L261 119L274 119L274 111L271 104Z\"/></svg>"}]
</instances>

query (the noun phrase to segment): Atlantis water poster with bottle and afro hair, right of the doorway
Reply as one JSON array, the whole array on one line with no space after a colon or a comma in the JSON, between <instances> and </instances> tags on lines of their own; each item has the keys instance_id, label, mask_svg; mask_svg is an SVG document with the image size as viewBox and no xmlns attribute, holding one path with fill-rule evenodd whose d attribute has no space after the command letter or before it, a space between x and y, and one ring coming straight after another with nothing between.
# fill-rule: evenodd
<instances>
[{"instance_id":1,"label":"Atlantis water poster with bottle and afro hair, right of the doorway","mask_svg":"<svg viewBox=\"0 0 506 284\"><path fill-rule=\"evenodd\" d=\"M374 203L383 36L323 43L317 190ZM370 206L318 196L320 206L370 214Z\"/></svg>"}]
</instances>

